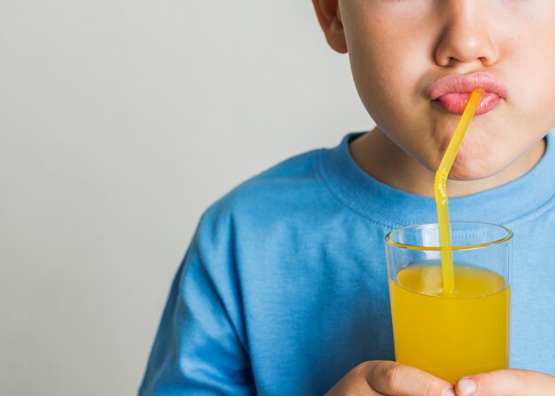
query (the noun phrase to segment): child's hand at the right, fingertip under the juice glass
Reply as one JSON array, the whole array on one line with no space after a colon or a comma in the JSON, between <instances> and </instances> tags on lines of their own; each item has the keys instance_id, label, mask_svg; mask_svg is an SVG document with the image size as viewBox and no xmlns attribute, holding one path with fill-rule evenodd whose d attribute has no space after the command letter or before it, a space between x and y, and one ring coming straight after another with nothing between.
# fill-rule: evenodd
<instances>
[{"instance_id":1,"label":"child's hand at the right, fingertip under the juice glass","mask_svg":"<svg viewBox=\"0 0 555 396\"><path fill-rule=\"evenodd\" d=\"M555 395L555 377L535 371L504 369L457 381L457 396Z\"/></svg>"}]
</instances>

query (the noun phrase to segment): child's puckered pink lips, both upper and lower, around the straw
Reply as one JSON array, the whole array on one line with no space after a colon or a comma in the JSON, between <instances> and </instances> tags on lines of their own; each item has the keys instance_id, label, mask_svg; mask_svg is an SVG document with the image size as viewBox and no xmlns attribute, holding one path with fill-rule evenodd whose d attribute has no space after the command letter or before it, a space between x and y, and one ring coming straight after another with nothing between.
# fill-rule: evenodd
<instances>
[{"instance_id":1,"label":"child's puckered pink lips, both upper and lower, around the straw","mask_svg":"<svg viewBox=\"0 0 555 396\"><path fill-rule=\"evenodd\" d=\"M473 74L449 74L432 84L428 98L441 105L449 113L462 114L473 89L484 89L476 114L488 113L500 105L507 96L503 82L483 72Z\"/></svg>"}]
</instances>

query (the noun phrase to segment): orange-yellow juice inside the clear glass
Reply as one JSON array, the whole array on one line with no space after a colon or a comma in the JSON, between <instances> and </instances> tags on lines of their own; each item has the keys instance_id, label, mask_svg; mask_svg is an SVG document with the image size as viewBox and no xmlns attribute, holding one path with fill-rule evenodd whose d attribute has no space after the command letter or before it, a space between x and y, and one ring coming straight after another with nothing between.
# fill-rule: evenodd
<instances>
[{"instance_id":1,"label":"orange-yellow juice inside the clear glass","mask_svg":"<svg viewBox=\"0 0 555 396\"><path fill-rule=\"evenodd\" d=\"M395 360L455 383L509 363L509 296L502 276L454 267L444 292L442 268L411 265L389 279Z\"/></svg>"}]
</instances>

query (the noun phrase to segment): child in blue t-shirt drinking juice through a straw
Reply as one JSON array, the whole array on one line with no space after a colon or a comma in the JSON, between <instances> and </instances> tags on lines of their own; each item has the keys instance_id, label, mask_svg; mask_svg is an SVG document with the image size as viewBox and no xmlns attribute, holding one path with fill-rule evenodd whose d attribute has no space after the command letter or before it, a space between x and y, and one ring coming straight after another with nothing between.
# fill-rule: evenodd
<instances>
[{"instance_id":1,"label":"child in blue t-shirt drinking juice through a straw","mask_svg":"<svg viewBox=\"0 0 555 396\"><path fill-rule=\"evenodd\" d=\"M555 2L313 3L377 128L207 210L140 394L555 394ZM514 232L515 369L453 385L393 362L383 238L437 220L434 171L476 87L486 93L450 173L450 214Z\"/></svg>"}]
</instances>

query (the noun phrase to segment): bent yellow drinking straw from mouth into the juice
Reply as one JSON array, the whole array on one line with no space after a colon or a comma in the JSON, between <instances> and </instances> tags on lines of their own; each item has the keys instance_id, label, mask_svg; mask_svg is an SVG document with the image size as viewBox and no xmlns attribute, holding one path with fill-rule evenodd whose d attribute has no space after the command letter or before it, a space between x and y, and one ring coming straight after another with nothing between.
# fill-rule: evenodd
<instances>
[{"instance_id":1,"label":"bent yellow drinking straw from mouth into the juice","mask_svg":"<svg viewBox=\"0 0 555 396\"><path fill-rule=\"evenodd\" d=\"M481 96L484 90L481 88L474 89L468 103L465 106L465 111L458 121L457 128L451 141L447 146L447 151L443 155L440 167L435 173L434 180L434 194L435 205L437 206L437 220L440 227L440 246L442 252L442 276L443 276L443 291L450 293L455 291L455 275L453 273L453 257L451 254L451 236L449 232L449 200L447 198L447 177L449 171L455 162L458 149L460 148L463 138L465 137L466 130L470 121L473 119L474 113L480 104Z\"/></svg>"}]
</instances>

